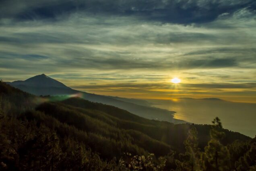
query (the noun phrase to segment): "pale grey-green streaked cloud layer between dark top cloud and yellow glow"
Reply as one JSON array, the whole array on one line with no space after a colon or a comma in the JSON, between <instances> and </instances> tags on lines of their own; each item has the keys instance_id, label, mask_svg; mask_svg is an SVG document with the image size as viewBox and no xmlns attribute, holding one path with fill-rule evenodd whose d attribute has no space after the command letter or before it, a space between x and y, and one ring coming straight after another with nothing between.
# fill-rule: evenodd
<instances>
[{"instance_id":1,"label":"pale grey-green streaked cloud layer between dark top cloud and yellow glow","mask_svg":"<svg viewBox=\"0 0 256 171\"><path fill-rule=\"evenodd\" d=\"M2 67L12 68L21 67L21 63L25 68L28 54L45 57L36 59L56 71L64 67L163 71L252 68L256 54L256 42L248 40L252 35L236 28L230 33L204 25L141 22L134 17L75 14L56 22L11 22L0 29L2 63L10 63ZM24 60L12 62L16 58Z\"/></svg>"}]
</instances>

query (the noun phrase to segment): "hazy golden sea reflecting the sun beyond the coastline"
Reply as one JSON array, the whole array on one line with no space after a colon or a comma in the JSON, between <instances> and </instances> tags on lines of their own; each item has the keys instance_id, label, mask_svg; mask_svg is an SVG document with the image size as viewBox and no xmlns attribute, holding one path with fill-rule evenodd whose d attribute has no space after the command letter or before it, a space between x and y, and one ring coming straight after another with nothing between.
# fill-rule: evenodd
<instances>
[{"instance_id":1,"label":"hazy golden sea reflecting the sun beyond the coastline","mask_svg":"<svg viewBox=\"0 0 256 171\"><path fill-rule=\"evenodd\" d=\"M176 98L173 98L176 99ZM212 118L222 118L225 128L254 137L256 104L233 103L222 100L180 99L151 101L157 108L175 111L173 118L195 124L211 124ZM241 116L241 113L243 116ZM232 120L230 120L232 118ZM242 118L242 119L241 119Z\"/></svg>"}]
</instances>

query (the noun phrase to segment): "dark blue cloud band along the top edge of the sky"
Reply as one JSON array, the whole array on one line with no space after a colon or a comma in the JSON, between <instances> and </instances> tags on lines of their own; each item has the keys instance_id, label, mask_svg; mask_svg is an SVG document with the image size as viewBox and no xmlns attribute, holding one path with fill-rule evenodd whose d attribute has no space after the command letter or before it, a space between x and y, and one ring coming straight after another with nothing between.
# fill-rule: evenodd
<instances>
[{"instance_id":1,"label":"dark blue cloud band along the top edge of the sky","mask_svg":"<svg viewBox=\"0 0 256 171\"><path fill-rule=\"evenodd\" d=\"M144 20L172 23L211 22L225 13L250 6L254 0L6 0L1 18L18 20L56 19L76 12L114 16L137 16Z\"/></svg>"}]
</instances>

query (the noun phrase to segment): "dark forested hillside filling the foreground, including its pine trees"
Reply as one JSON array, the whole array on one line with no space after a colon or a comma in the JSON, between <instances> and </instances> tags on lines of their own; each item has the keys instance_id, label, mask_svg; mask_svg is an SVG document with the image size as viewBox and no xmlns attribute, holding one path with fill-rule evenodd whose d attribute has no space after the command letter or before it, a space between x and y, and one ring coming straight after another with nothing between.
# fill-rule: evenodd
<instances>
[{"instance_id":1,"label":"dark forested hillside filling the foreground, including its pine trees","mask_svg":"<svg viewBox=\"0 0 256 171\"><path fill-rule=\"evenodd\" d=\"M256 139L0 83L0 170L253 170Z\"/></svg>"}]
</instances>

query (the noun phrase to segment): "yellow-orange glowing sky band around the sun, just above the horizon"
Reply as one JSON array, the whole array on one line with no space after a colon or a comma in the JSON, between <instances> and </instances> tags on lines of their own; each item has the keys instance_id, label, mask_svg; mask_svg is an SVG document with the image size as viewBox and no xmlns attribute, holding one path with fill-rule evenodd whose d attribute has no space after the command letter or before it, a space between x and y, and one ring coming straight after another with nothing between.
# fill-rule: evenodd
<instances>
[{"instance_id":1,"label":"yellow-orange glowing sky band around the sun, just above the horizon","mask_svg":"<svg viewBox=\"0 0 256 171\"><path fill-rule=\"evenodd\" d=\"M178 74L176 74L175 77L180 78L181 82L177 84L171 82L173 77L169 75L151 75L151 77L155 78L153 81L149 81L147 79L138 81L133 80L133 78L126 78L125 80L122 79L116 81L111 80L110 76L110 80L96 77L91 77L90 79L88 79L88 77L87 79L63 79L60 77L55 77L54 75L51 76L52 74L46 75L75 90L106 96L159 100L175 100L184 97L220 98L231 102L256 103L256 97L254 94L245 94L246 91L250 91L251 89L237 88L237 86L241 86L240 84L227 84L225 82L222 84L209 84L204 83L203 81L200 82L200 80L195 81L195 79L190 79L189 77L185 77L185 75L179 76ZM32 76L34 75L31 75L31 77ZM156 77L158 77L157 81L155 81ZM6 79L4 81L14 80Z\"/></svg>"}]
</instances>

